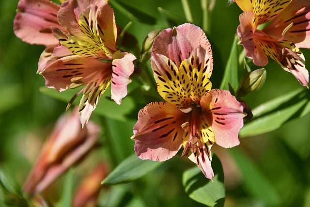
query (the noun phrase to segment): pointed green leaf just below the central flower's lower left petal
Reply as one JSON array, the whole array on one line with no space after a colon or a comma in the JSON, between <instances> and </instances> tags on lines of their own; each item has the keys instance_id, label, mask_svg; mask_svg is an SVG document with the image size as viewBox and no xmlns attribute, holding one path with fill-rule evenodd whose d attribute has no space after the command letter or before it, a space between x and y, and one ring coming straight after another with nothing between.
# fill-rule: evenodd
<instances>
[{"instance_id":1,"label":"pointed green leaf just below the central flower's lower left petal","mask_svg":"<svg viewBox=\"0 0 310 207\"><path fill-rule=\"evenodd\" d=\"M155 170L162 162L142 160L132 154L124 159L102 182L104 185L115 185L136 180Z\"/></svg>"}]
</instances>

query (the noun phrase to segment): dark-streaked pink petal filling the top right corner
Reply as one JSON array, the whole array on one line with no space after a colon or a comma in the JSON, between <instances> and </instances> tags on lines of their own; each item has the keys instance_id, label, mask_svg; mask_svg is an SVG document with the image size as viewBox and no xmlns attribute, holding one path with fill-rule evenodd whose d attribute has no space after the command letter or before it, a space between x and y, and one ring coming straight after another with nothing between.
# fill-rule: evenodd
<instances>
[{"instance_id":1,"label":"dark-streaked pink petal filling the top right corner","mask_svg":"<svg viewBox=\"0 0 310 207\"><path fill-rule=\"evenodd\" d=\"M293 42L298 48L310 48L310 1L294 0L266 28L263 29L275 39L291 23L293 26L284 34L284 39Z\"/></svg>"}]
</instances>

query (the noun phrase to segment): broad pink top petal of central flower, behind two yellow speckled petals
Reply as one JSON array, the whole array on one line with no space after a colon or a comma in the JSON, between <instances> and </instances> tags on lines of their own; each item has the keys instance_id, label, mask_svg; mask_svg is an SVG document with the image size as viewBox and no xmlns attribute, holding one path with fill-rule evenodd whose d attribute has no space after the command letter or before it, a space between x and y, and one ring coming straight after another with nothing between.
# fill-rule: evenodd
<instances>
[{"instance_id":1,"label":"broad pink top petal of central flower, behind two yellow speckled petals","mask_svg":"<svg viewBox=\"0 0 310 207\"><path fill-rule=\"evenodd\" d=\"M163 30L154 40L152 53L165 55L179 67L182 60L189 58L193 49L199 46L211 51L210 43L202 29L185 23L173 29Z\"/></svg>"}]
</instances>

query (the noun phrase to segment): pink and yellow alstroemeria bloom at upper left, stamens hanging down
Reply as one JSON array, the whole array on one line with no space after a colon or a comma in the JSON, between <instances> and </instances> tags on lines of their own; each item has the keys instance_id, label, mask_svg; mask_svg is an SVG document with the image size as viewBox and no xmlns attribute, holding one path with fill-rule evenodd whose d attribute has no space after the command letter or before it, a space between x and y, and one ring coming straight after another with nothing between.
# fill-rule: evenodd
<instances>
[{"instance_id":1,"label":"pink and yellow alstroemeria bloom at upper left, stamens hanging down","mask_svg":"<svg viewBox=\"0 0 310 207\"><path fill-rule=\"evenodd\" d=\"M38 72L47 87L60 92L85 85L79 92L83 92L79 112L84 126L110 83L111 98L121 103L136 58L116 48L114 11L104 0L65 1L57 19L68 32L52 28L62 46L41 55Z\"/></svg>"}]
</instances>

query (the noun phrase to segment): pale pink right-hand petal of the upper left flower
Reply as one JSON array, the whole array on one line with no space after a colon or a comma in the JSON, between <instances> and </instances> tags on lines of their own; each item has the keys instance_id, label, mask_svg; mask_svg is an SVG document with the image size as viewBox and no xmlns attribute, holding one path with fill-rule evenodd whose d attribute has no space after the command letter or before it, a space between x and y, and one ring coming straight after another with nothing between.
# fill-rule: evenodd
<instances>
[{"instance_id":1,"label":"pale pink right-hand petal of the upper left flower","mask_svg":"<svg viewBox=\"0 0 310 207\"><path fill-rule=\"evenodd\" d=\"M127 95L127 85L130 83L130 75L134 72L133 61L136 57L129 52L116 51L113 54L111 98L121 104L122 98Z\"/></svg>"}]
</instances>

